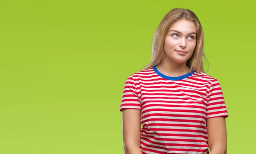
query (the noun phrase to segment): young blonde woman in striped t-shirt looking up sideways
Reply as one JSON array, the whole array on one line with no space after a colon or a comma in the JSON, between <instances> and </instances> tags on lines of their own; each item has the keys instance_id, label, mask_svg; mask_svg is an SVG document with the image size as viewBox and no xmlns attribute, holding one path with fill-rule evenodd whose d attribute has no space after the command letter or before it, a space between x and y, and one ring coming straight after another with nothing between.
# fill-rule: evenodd
<instances>
[{"instance_id":1,"label":"young blonde woman in striped t-shirt looking up sideways","mask_svg":"<svg viewBox=\"0 0 256 154\"><path fill-rule=\"evenodd\" d=\"M125 154L226 154L228 113L204 72L196 15L175 8L154 34L152 58L125 82L120 111Z\"/></svg>"}]
</instances>

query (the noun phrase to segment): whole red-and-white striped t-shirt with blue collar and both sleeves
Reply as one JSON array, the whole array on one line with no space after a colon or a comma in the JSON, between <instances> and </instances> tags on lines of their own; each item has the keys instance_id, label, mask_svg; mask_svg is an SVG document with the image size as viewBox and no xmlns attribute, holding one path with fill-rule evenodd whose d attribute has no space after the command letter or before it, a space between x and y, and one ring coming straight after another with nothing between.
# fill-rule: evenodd
<instances>
[{"instance_id":1,"label":"whole red-and-white striped t-shirt with blue collar and both sleeves","mask_svg":"<svg viewBox=\"0 0 256 154\"><path fill-rule=\"evenodd\" d=\"M156 67L128 77L122 109L141 110L143 154L202 154L207 118L228 117L216 78L195 71L170 77Z\"/></svg>"}]
</instances>

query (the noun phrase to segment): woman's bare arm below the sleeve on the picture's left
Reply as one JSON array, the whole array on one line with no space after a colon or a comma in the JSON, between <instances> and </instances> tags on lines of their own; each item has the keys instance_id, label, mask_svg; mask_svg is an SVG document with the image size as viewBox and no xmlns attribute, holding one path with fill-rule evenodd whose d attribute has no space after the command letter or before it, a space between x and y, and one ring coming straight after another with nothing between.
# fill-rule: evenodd
<instances>
[{"instance_id":1,"label":"woman's bare arm below the sleeve on the picture's left","mask_svg":"<svg viewBox=\"0 0 256 154\"><path fill-rule=\"evenodd\" d=\"M140 109L123 109L122 134L124 154L142 154L140 151Z\"/></svg>"}]
</instances>

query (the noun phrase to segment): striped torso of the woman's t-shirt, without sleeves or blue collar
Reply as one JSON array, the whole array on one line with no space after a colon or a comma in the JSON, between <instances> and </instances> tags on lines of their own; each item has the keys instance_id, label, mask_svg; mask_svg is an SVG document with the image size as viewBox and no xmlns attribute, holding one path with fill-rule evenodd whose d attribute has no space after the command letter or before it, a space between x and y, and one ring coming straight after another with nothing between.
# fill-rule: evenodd
<instances>
[{"instance_id":1,"label":"striped torso of the woman's t-shirt, without sleeves or blue collar","mask_svg":"<svg viewBox=\"0 0 256 154\"><path fill-rule=\"evenodd\" d=\"M137 78L141 103L142 151L145 154L206 151L207 87L212 78L194 73L188 78L168 80L155 72L148 73L133 75Z\"/></svg>"}]
</instances>

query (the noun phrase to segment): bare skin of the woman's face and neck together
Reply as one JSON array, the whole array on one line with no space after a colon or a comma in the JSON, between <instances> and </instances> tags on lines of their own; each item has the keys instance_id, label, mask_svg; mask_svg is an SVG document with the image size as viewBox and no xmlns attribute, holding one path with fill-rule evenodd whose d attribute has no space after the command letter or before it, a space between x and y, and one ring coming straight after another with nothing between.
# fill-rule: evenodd
<instances>
[{"instance_id":1,"label":"bare skin of the woman's face and neck together","mask_svg":"<svg viewBox=\"0 0 256 154\"><path fill-rule=\"evenodd\" d=\"M192 56L196 45L196 28L193 22L179 20L170 28L164 43L166 53L163 63L157 69L166 76L182 76L189 73L186 61ZM184 50L180 54L178 50Z\"/></svg>"}]
</instances>

